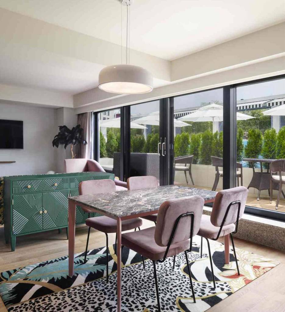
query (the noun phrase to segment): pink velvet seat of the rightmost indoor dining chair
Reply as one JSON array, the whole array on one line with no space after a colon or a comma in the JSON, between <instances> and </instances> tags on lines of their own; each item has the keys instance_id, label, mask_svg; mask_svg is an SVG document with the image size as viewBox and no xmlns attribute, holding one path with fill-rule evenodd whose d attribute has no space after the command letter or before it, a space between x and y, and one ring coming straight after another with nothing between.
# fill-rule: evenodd
<instances>
[{"instance_id":1,"label":"pink velvet seat of the rightmost indoor dining chair","mask_svg":"<svg viewBox=\"0 0 285 312\"><path fill-rule=\"evenodd\" d=\"M219 227L215 227L210 220L210 216L202 215L201 224L200 224L200 230L197 235L205 237L205 238L217 238L219 233ZM225 225L221 231L220 236L225 236L229 233L234 232L235 225L233 223L229 225Z\"/></svg>"}]
</instances>

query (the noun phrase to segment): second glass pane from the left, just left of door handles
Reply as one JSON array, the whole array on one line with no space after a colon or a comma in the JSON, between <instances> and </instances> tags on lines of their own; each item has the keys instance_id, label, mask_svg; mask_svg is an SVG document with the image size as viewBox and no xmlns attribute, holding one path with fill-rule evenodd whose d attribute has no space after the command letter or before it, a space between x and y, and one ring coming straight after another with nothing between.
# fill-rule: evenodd
<instances>
[{"instance_id":1,"label":"second glass pane from the left, just left of door handles","mask_svg":"<svg viewBox=\"0 0 285 312\"><path fill-rule=\"evenodd\" d=\"M130 121L130 176L159 180L159 101L132 105Z\"/></svg>"}]
</instances>

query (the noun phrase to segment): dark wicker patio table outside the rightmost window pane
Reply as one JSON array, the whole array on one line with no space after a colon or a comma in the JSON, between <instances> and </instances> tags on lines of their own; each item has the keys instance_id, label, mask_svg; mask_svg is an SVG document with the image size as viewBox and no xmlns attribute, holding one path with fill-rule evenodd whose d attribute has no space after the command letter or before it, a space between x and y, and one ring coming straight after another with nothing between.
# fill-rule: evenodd
<instances>
[{"instance_id":1,"label":"dark wicker patio table outside the rightmost window pane","mask_svg":"<svg viewBox=\"0 0 285 312\"><path fill-rule=\"evenodd\" d=\"M260 192L263 190L268 190L268 194L270 197L270 180L271 180L271 173L269 171L269 163L272 163L276 159L266 159L266 158L243 158L243 161L247 161L251 164L253 169L253 175L251 178L250 183L248 184L248 188L256 188L258 189L257 200L259 200ZM254 168L254 163L260 163L260 172L256 172ZM263 164L267 164L266 171L263 170ZM272 182L272 189L279 190L279 183ZM282 191L284 196L284 193ZM284 196L285 197L285 196Z\"/></svg>"}]
</instances>

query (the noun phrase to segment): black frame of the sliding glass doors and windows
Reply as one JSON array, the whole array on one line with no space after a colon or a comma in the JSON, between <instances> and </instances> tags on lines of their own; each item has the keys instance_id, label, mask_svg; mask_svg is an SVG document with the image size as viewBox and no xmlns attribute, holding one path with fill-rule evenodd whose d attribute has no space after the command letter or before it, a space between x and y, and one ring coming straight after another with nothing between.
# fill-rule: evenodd
<instances>
[{"instance_id":1,"label":"black frame of the sliding glass doors and windows","mask_svg":"<svg viewBox=\"0 0 285 312\"><path fill-rule=\"evenodd\" d=\"M174 145L174 134L173 134L173 115L174 115L174 98L182 95L195 94L199 92L205 92L216 89L223 89L223 107L224 107L224 119L229 122L223 123L223 165L224 165L224 178L223 178L223 189L232 188L236 185L236 131L237 131L237 120L236 112L238 110L236 103L236 90L240 86L253 85L261 82L284 79L285 74L270 76L262 79L248 80L246 82L236 83L232 85L224 85L216 88L210 88L205 90L199 90L196 92L189 92L172 97L166 97L156 100L143 101L131 105L124 105L117 108L110 108L101 111L93 112L94 114L94 159L99 161L100 158L100 131L99 131L99 114L104 111L120 109L121 117L121 176L124 180L129 177L130 173L130 106L145 104L153 101L160 101L160 117L162 123L160 125L160 133L168 138L167 140L167 158L160 165L163 166L162 176L160 180L164 184L173 184L174 170L173 164L173 145ZM163 109L161 109L163 105ZM254 106L254 105L253 105ZM258 106L258 105L255 105ZM260 106L260 105L259 105ZM163 113L161 113L163 112ZM227 155L227 157L224 157ZM258 208L253 206L246 206L245 213L264 217L271 220L278 220L285 222L285 213L269 210L265 208Z\"/></svg>"}]
</instances>

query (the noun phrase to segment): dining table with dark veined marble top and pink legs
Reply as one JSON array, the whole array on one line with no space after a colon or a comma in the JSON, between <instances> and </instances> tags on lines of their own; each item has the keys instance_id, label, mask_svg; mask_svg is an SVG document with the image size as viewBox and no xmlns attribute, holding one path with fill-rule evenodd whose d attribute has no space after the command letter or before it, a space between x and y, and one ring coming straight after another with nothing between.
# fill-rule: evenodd
<instances>
[{"instance_id":1,"label":"dining table with dark veined marble top and pink legs","mask_svg":"<svg viewBox=\"0 0 285 312\"><path fill-rule=\"evenodd\" d=\"M158 212L165 200L199 195L205 203L213 202L216 192L177 185L68 197L68 271L74 274L76 205L117 220L117 311L121 311L121 222ZM229 263L229 235L224 236L225 262Z\"/></svg>"}]
</instances>

